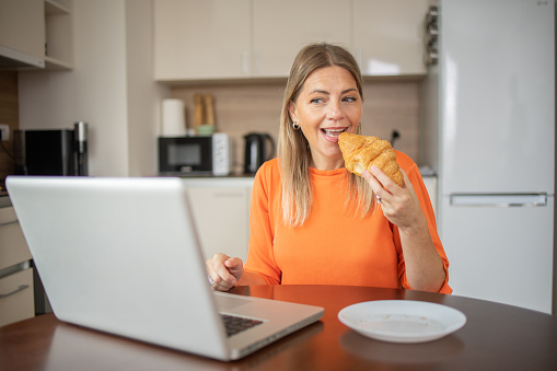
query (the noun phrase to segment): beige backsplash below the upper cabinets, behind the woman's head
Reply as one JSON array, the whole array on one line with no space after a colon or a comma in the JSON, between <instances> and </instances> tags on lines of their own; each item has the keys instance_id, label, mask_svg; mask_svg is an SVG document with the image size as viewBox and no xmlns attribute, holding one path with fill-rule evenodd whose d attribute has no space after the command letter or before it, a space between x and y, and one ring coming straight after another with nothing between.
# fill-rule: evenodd
<instances>
[{"instance_id":1,"label":"beige backsplash below the upper cabinets, behind the woman's head","mask_svg":"<svg viewBox=\"0 0 557 371\"><path fill-rule=\"evenodd\" d=\"M418 158L418 88L419 81L414 80L373 80L363 85L363 134L391 140L393 131L398 131L394 148L415 161ZM245 134L268 132L277 140L283 89L285 81L174 86L171 95L184 101L188 128L194 123L194 95L210 93L214 96L217 131L233 138L234 171L241 172Z\"/></svg>"}]
</instances>

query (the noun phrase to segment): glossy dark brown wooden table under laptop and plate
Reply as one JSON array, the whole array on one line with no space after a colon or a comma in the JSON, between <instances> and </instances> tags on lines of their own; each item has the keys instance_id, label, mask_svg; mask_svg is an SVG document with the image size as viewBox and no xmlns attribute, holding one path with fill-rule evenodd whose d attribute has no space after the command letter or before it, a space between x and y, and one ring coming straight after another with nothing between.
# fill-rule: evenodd
<instances>
[{"instance_id":1,"label":"glossy dark brown wooden table under laptop and plate","mask_svg":"<svg viewBox=\"0 0 557 371\"><path fill-rule=\"evenodd\" d=\"M0 370L557 370L557 317L418 291L336 286L253 286L231 292L325 308L318 323L240 361L212 361L58 321L53 314L0 328ZM462 311L442 339L391 344L343 325L338 311L371 300L419 300Z\"/></svg>"}]
</instances>

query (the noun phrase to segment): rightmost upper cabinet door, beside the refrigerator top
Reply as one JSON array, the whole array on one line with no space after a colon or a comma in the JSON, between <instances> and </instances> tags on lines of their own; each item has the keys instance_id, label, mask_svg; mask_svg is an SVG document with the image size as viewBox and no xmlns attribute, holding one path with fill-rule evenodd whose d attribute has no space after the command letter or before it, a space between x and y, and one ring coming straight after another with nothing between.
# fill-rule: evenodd
<instances>
[{"instance_id":1,"label":"rightmost upper cabinet door, beside the refrigerator top","mask_svg":"<svg viewBox=\"0 0 557 371\"><path fill-rule=\"evenodd\" d=\"M425 74L429 0L353 0L353 47L364 76Z\"/></svg>"}]
</instances>

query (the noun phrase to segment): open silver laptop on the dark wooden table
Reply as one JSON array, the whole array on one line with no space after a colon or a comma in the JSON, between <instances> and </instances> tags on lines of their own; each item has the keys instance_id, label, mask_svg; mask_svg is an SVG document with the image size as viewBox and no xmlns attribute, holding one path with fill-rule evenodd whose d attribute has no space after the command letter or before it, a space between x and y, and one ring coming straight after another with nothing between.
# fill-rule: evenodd
<instances>
[{"instance_id":1,"label":"open silver laptop on the dark wooden table","mask_svg":"<svg viewBox=\"0 0 557 371\"><path fill-rule=\"evenodd\" d=\"M61 321L233 360L324 314L213 292L179 178L10 176L7 187ZM223 316L251 327L229 335Z\"/></svg>"}]
</instances>

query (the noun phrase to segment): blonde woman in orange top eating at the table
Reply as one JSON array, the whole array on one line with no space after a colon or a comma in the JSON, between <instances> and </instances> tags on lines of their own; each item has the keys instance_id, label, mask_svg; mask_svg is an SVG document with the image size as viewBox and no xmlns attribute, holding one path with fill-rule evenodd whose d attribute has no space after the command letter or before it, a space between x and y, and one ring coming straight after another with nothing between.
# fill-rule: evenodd
<instances>
[{"instance_id":1,"label":"blonde woman in orange top eating at the table","mask_svg":"<svg viewBox=\"0 0 557 371\"><path fill-rule=\"evenodd\" d=\"M338 135L360 132L362 100L360 70L347 50L300 50L285 92L278 158L255 176L246 265L224 254L207 260L214 290L311 283L452 292L411 159L396 151L403 187L376 167L359 177L344 165Z\"/></svg>"}]
</instances>

